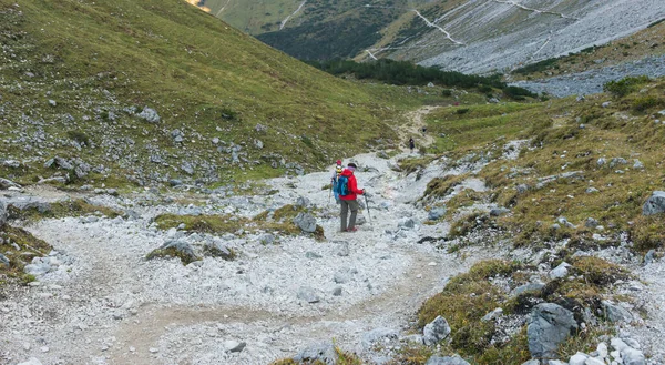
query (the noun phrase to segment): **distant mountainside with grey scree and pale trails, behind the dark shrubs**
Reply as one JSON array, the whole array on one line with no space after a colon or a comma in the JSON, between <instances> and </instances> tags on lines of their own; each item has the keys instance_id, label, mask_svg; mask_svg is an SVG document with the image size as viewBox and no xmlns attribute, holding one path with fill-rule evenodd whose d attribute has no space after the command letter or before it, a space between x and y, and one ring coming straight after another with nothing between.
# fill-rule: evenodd
<instances>
[{"instance_id":1,"label":"distant mountainside with grey scree and pale trails, behind the dark shrubs","mask_svg":"<svg viewBox=\"0 0 665 365\"><path fill-rule=\"evenodd\" d=\"M299 58L392 58L473 73L510 71L603 44L665 18L658 0L201 3Z\"/></svg>"}]
</instances>

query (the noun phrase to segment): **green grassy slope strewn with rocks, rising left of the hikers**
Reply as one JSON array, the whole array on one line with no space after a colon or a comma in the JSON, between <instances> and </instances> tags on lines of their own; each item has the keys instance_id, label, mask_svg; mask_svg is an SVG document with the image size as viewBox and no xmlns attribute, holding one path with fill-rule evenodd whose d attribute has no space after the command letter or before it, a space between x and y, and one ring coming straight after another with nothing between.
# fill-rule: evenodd
<instances>
[{"instance_id":1,"label":"green grassy slope strewn with rocks, rising left of the hikers","mask_svg":"<svg viewBox=\"0 0 665 365\"><path fill-rule=\"evenodd\" d=\"M20 183L64 174L43 168L55 155L92 168L81 184L307 169L389 140L396 109L385 105L417 103L319 72L180 0L0 0L0 155L20 162L0 175ZM145 107L161 122L137 116Z\"/></svg>"}]
</instances>

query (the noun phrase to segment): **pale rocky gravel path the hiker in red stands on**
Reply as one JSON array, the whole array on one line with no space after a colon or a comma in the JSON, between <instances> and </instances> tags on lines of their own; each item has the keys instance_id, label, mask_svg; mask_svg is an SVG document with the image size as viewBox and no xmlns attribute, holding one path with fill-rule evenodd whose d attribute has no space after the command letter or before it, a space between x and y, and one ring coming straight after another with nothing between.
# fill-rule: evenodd
<instances>
[{"instance_id":1,"label":"pale rocky gravel path the hiker in red stands on","mask_svg":"<svg viewBox=\"0 0 665 365\"><path fill-rule=\"evenodd\" d=\"M427 112L416 114L415 129ZM417 244L448 230L423 225L427 212L417 206L427 182L447 171L434 165L423 179L403 176L391 170L399 158L352 159L365 171L358 173L360 187L372 193L371 223L365 210L368 222L356 233L337 232L337 205L321 190L329 172L267 181L279 191L275 195L208 201L205 212L232 210L244 216L299 196L319 210L326 242L282 236L278 244L263 245L252 235L229 235L225 240L239 252L233 262L144 261L175 234L151 224L156 214L183 209L174 203L142 207L136 197L92 197L139 214L29 225L62 263L34 286L0 301L1 358L8 364L30 357L43 364L268 364L332 338L367 354L362 338L368 332L406 329L422 301L449 276L491 256L477 252L463 261ZM348 253L340 253L346 245ZM303 300L303 287L318 302ZM334 294L338 288L340 295ZM231 351L241 344L246 345L242 352Z\"/></svg>"}]
</instances>

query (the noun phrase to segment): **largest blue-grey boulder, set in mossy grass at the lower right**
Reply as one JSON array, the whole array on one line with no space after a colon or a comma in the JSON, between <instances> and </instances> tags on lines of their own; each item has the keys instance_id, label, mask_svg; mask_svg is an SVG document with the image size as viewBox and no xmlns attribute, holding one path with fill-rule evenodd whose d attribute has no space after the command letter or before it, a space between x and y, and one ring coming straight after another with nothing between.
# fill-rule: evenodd
<instances>
[{"instance_id":1,"label":"largest blue-grey boulder, set in mossy grass at the lower right","mask_svg":"<svg viewBox=\"0 0 665 365\"><path fill-rule=\"evenodd\" d=\"M556 358L559 345L577 329L573 313L554 303L533 307L526 335L529 351L535 358Z\"/></svg>"}]
</instances>

